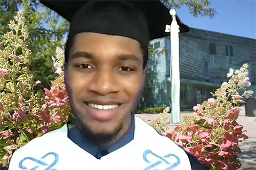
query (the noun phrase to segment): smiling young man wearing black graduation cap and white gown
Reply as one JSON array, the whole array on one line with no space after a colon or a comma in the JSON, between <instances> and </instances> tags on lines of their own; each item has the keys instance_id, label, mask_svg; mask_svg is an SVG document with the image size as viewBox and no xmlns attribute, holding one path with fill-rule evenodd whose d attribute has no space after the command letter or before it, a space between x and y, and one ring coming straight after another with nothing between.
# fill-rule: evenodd
<instances>
[{"instance_id":1,"label":"smiling young man wearing black graduation cap and white gown","mask_svg":"<svg viewBox=\"0 0 256 170\"><path fill-rule=\"evenodd\" d=\"M163 36L171 21L164 5L41 2L71 21L65 84L76 125L30 141L9 169L204 169L132 114L146 81L149 39Z\"/></svg>"}]
</instances>

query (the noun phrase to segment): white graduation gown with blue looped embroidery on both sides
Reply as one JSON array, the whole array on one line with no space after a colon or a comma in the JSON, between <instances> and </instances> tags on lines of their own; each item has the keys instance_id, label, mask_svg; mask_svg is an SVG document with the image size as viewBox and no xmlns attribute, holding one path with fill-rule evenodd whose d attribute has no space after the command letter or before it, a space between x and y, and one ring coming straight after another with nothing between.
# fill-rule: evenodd
<instances>
[{"instance_id":1,"label":"white graduation gown with blue looped embroidery on both sides","mask_svg":"<svg viewBox=\"0 0 256 170\"><path fill-rule=\"evenodd\" d=\"M64 125L15 151L9 169L205 169L141 118L135 117L134 124L133 140L100 158L70 140Z\"/></svg>"}]
</instances>

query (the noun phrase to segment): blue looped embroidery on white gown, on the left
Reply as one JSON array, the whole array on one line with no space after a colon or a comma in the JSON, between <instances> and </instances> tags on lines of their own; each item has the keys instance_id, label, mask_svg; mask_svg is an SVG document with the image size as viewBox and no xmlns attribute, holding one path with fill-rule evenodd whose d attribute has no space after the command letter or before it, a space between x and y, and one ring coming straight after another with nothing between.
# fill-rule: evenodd
<instances>
[{"instance_id":1,"label":"blue looped embroidery on white gown, on the left","mask_svg":"<svg viewBox=\"0 0 256 170\"><path fill-rule=\"evenodd\" d=\"M44 159L44 158L46 158L47 156L49 156L49 155L54 155L54 157L55 157L55 160L52 162L52 164L50 164L48 167L46 167L44 170L50 170L51 169L51 167L53 167L55 164L57 164L58 162L59 162L59 155L58 154L56 154L55 152L49 152L49 153L47 153L47 154L45 154L43 157L41 157L41 159ZM28 167L26 167L26 166L23 166L22 165L22 163L25 161L25 160L32 160L32 161L34 161L34 162L36 162L36 163L38 163L38 164L40 164L40 165L38 165L38 166L35 166L35 167L33 167L33 168L28 168ZM29 170L35 170L36 168L38 168L39 166L47 166L48 164L46 164L45 162L43 162L42 160L39 160L39 159L36 159L36 158L33 158L33 157L26 157L26 158L23 158L21 161L20 161L20 163L19 163L19 168L21 168L21 169L29 169ZM51 169L51 170L57 170L57 169Z\"/></svg>"}]
</instances>

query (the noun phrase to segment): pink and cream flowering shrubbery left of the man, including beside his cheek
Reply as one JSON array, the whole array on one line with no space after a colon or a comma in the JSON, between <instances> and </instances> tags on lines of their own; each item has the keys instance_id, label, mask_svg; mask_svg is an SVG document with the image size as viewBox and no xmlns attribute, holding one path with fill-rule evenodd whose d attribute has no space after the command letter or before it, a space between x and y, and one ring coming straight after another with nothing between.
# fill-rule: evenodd
<instances>
[{"instance_id":1,"label":"pink and cream flowering shrubbery left of the man, including beside his cheek","mask_svg":"<svg viewBox=\"0 0 256 170\"><path fill-rule=\"evenodd\" d=\"M60 66L63 51L57 48L57 58L53 57L60 78L52 82L51 90L44 89L46 96L42 91L36 93L33 89L41 82L35 82L35 74L29 70L25 18L18 12L14 19L0 43L0 169L9 165L15 150L60 128L70 112Z\"/></svg>"}]
</instances>

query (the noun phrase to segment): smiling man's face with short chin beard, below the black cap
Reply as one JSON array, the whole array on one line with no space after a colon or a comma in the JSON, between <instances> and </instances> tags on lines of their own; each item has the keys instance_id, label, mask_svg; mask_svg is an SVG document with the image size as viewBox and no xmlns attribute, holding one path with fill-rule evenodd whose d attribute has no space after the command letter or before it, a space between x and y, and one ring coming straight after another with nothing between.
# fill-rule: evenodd
<instances>
[{"instance_id":1,"label":"smiling man's face with short chin beard, below the black cap","mask_svg":"<svg viewBox=\"0 0 256 170\"><path fill-rule=\"evenodd\" d=\"M94 134L125 131L143 86L138 41L83 32L74 38L65 84L79 123Z\"/></svg>"}]
</instances>

